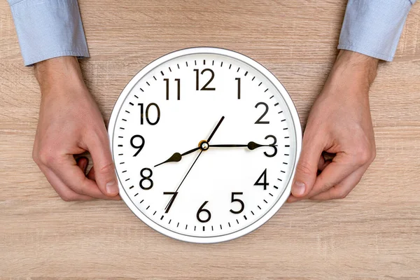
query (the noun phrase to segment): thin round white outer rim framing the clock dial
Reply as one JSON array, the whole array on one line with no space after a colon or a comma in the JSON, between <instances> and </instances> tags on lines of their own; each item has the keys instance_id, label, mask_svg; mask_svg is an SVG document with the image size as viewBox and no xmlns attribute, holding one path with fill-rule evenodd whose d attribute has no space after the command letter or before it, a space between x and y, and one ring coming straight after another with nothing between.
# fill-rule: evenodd
<instances>
[{"instance_id":1,"label":"thin round white outer rim framing the clock dial","mask_svg":"<svg viewBox=\"0 0 420 280\"><path fill-rule=\"evenodd\" d=\"M130 82L125 86L123 92L121 92L120 96L118 97L118 100L116 104L113 107L113 111L111 113L111 118L109 120L109 139L111 141L111 154L113 155L113 134L114 129L116 126L116 120L118 117L119 110L121 106L123 106L123 103L125 99L127 98L128 94L130 94L132 88L134 85L137 84L137 82L145 76L150 71L153 71L156 67L160 66L161 64L168 62L172 59L175 59L177 57L183 57L186 55L193 55L193 54L212 54L212 55L223 55L226 57L231 57L233 59L238 59L241 62L244 62L245 64L248 64L256 71L259 71L264 75L270 83L281 93L281 98L283 98L284 102L288 106L288 110L290 111L290 116L293 120L293 126L295 131L295 139L296 139L296 145L295 145L295 162L293 162L293 172L290 175L290 179L286 185L286 188L284 189L283 193L280 195L279 200L277 200L274 205L272 206L269 211L266 212L264 216L262 216L260 219L252 223L251 225L246 226L245 228L242 228L241 230L237 230L236 232L231 232L226 235L220 235L215 237L193 237L190 235L183 235L178 232L173 232L172 230L168 230L167 228L162 227L162 225L159 225L158 223L155 223L150 218L148 218L146 215L144 215L130 200L130 197L125 192L125 189L123 188L122 184L120 183L120 179L118 176L118 186L120 188L120 197L124 200L125 204L127 204L127 207L130 208L130 210L136 215L141 221L146 223L149 227L153 228L153 230L156 230L157 232L162 233L162 235L167 235L168 237L172 237L174 239L178 239L181 241L187 241L187 242L193 242L193 243L202 243L202 244L209 244L209 243L217 243L222 241L228 241L232 239L236 239L238 237L241 237L243 235L246 235L253 230L256 230L261 225L266 223L274 214L276 214L277 211L279 211L280 207L286 202L290 195L291 185L293 183L293 176L295 175L295 168L297 165L297 160L299 160L301 146L302 146L302 128L300 126L300 119L297 114L297 110L295 108L295 105L293 104L292 99L290 98L288 92L283 87L283 85L280 83L280 81L274 76L269 70L267 70L264 66L259 64L258 62L255 62L255 60L251 59L250 57L247 57L246 55L242 55L239 52L234 52L232 50L226 50L223 48L211 48L211 47L197 47L197 48L186 48L183 50L177 50L175 52L170 52L167 55L164 55L155 61L151 62L151 64L148 64L144 69L141 69L139 73L137 73ZM114 160L115 161L115 160Z\"/></svg>"}]
</instances>

